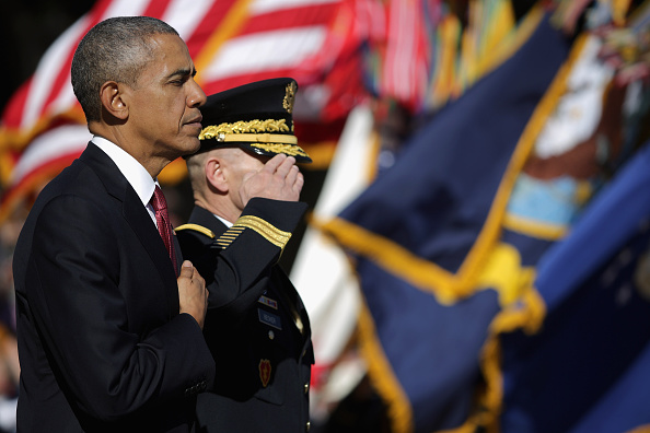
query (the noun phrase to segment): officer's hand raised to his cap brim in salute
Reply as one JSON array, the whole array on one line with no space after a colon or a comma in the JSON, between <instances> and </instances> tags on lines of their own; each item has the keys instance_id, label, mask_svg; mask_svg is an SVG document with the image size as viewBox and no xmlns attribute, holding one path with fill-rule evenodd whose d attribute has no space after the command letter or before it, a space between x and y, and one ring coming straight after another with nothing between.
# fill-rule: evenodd
<instances>
[{"instance_id":1,"label":"officer's hand raised to his cap brim in salute","mask_svg":"<svg viewBox=\"0 0 650 433\"><path fill-rule=\"evenodd\" d=\"M258 172L247 173L240 188L240 198L247 203L253 197L298 201L304 177L293 156L283 153L270 159Z\"/></svg>"}]
</instances>

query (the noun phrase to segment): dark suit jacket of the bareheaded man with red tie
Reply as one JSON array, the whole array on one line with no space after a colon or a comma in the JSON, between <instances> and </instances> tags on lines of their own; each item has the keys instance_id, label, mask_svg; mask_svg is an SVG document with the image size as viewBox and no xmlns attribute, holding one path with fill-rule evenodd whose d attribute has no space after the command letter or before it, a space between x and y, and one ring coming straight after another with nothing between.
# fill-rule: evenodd
<instances>
[{"instance_id":1,"label":"dark suit jacket of the bareheaded man with red tie","mask_svg":"<svg viewBox=\"0 0 650 433\"><path fill-rule=\"evenodd\" d=\"M14 254L20 432L188 432L214 364L136 191L93 143Z\"/></svg>"}]
</instances>

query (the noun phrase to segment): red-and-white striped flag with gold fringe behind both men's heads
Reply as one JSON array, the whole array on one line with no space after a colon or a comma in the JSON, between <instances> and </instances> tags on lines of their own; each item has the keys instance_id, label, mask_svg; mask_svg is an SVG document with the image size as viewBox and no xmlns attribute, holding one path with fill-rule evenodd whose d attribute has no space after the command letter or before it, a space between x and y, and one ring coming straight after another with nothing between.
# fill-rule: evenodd
<instances>
[{"instance_id":1,"label":"red-and-white striped flag with gold fringe behind both men's heads","mask_svg":"<svg viewBox=\"0 0 650 433\"><path fill-rule=\"evenodd\" d=\"M361 1L361 0L359 0ZM300 92L295 130L314 165L325 167L349 110L365 98L359 49L363 32L352 0L98 0L58 37L34 72L7 105L0 122L0 183L5 189L2 221L24 192L66 166L79 152L51 145L46 159L27 159L25 150L58 128L65 141L70 125L85 119L70 84L70 65L79 40L96 23L117 15L160 17L178 31L207 94L255 80L293 77ZM88 136L90 138L90 134ZM69 141L77 143L78 134ZM312 145L312 147L310 147ZM61 150L61 153L56 153ZM23 154L25 152L25 154ZM20 165L21 173L13 173ZM161 182L185 175L182 161L170 164Z\"/></svg>"}]
</instances>

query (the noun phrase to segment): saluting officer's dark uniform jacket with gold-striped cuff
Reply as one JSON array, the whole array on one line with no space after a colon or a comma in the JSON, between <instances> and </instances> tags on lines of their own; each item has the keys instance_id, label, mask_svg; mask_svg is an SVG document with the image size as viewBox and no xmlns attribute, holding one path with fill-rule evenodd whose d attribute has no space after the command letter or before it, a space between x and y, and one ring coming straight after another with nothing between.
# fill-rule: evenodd
<instances>
[{"instance_id":1,"label":"saluting officer's dark uniform jacket with gold-striped cuff","mask_svg":"<svg viewBox=\"0 0 650 433\"><path fill-rule=\"evenodd\" d=\"M305 431L314 362L311 329L298 292L276 265L280 245L305 208L255 198L227 231L196 207L189 223L209 229L214 237L177 232L184 256L196 261L210 290L204 333L217 375L198 397L199 432Z\"/></svg>"}]
</instances>

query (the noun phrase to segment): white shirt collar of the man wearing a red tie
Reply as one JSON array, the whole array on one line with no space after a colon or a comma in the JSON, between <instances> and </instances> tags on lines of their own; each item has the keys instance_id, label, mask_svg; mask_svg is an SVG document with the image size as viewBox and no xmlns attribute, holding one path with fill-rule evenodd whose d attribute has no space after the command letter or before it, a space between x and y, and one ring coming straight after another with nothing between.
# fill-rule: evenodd
<instances>
[{"instance_id":1,"label":"white shirt collar of the man wearing a red tie","mask_svg":"<svg viewBox=\"0 0 650 433\"><path fill-rule=\"evenodd\" d=\"M138 197L140 197L142 204L149 204L158 180L151 178L142 164L112 141L97 136L94 136L91 141L113 160L117 168L136 190Z\"/></svg>"}]
</instances>

